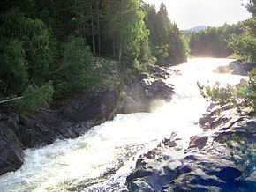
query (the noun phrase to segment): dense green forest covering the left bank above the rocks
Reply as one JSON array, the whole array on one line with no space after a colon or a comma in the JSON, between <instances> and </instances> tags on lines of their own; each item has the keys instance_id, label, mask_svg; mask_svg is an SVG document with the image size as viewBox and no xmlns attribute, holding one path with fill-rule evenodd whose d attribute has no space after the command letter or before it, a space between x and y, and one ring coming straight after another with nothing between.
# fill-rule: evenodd
<instances>
[{"instance_id":1,"label":"dense green forest covering the left bank above the rocks","mask_svg":"<svg viewBox=\"0 0 256 192\"><path fill-rule=\"evenodd\" d=\"M100 79L92 70L93 57L142 70L147 63L183 63L188 54L184 35L170 22L164 4L159 11L139 0L0 4L1 100L26 95L25 103L14 102L18 111L27 102L33 109L43 100L87 92Z\"/></svg>"}]
</instances>

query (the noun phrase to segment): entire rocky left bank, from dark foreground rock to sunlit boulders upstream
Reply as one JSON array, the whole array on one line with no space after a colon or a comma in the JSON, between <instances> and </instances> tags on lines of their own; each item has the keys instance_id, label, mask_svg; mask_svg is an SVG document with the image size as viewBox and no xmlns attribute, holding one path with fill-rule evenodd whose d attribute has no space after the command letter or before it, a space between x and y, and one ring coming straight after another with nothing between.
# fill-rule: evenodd
<instances>
[{"instance_id":1,"label":"entire rocky left bank, from dark foreground rock to sunlit boulders upstream","mask_svg":"<svg viewBox=\"0 0 256 192\"><path fill-rule=\"evenodd\" d=\"M94 63L101 73L109 73L101 61ZM110 70L112 78L120 78L117 77L117 63L109 61L107 66L113 68ZM161 75L155 76L168 75L167 70L157 69ZM117 113L149 111L153 100L169 100L174 92L173 86L162 78L135 82L127 78L124 82L125 85L97 85L91 92L66 101L55 111L41 109L31 116L0 113L0 175L22 165L22 150L26 148L52 144L56 139L79 137L88 129L112 120Z\"/></svg>"}]
</instances>

